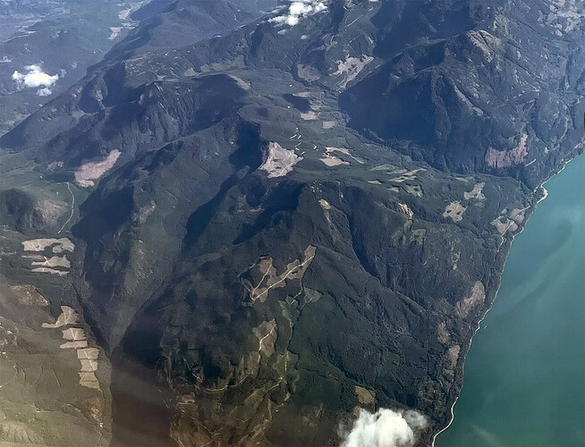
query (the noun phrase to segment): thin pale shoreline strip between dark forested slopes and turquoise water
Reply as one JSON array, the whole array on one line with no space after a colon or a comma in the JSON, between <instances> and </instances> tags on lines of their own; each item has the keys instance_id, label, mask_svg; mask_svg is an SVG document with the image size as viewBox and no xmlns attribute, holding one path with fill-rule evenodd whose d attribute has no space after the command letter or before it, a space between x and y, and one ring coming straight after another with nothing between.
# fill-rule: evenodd
<instances>
[{"instance_id":1,"label":"thin pale shoreline strip between dark forested slopes and turquoise water","mask_svg":"<svg viewBox=\"0 0 585 447\"><path fill-rule=\"evenodd\" d=\"M576 148L579 148L581 145L578 145ZM467 349L465 350L465 353L462 355L462 364L461 367L457 368L457 373L461 375L461 386L457 392L456 397L454 398L454 402L450 405L450 418L449 418L449 422L447 423L447 425L445 427L443 427L441 430L439 430L436 434L433 434L432 436L432 440L430 443L430 447L435 447L435 443L437 441L437 436L439 434L442 434L443 432L445 432L445 430L447 428L449 428L450 426L453 425L454 422L454 408L455 405L457 403L457 401L459 400L459 397L461 396L461 392L462 392L462 387L463 387L463 381L464 381L464 366L465 366L465 360L467 358L467 355L469 353L469 351L471 350L471 345L473 342L473 338L475 337L476 333L478 333L479 329L481 328L481 322L486 318L486 316L488 316L488 312L494 307L494 303L496 302L496 298L497 298L497 294L500 291L500 287L502 285L502 274L504 273L504 269L505 269L505 265L507 263L508 257L509 257L509 253L510 253L510 249L512 249L512 245L514 240L516 239L516 236L518 236L519 234L521 234L524 231L524 228L526 226L526 223L528 223L528 221L530 220L531 215L536 211L538 204L540 202L542 202L545 198L548 197L548 190L545 188L545 184L550 181L551 179L553 179L556 175L558 175L559 173L562 173L564 171L564 168L566 167L567 164L571 163L572 160L574 160L577 156L582 156L583 155L583 151L578 151L576 154L570 156L567 159L564 159L558 170L556 170L554 173L552 173L545 181L542 181L542 183L540 183L538 185L538 187L533 191L534 194L536 195L538 190L542 190L543 191L543 195L541 198L536 199L536 202L534 202L531 206L530 206L530 214L526 217L526 219L524 219L524 222L522 222L521 224L521 228L518 232L514 233L512 236L512 239L510 240L510 244L507 248L507 251L504 255L504 263L502 266L502 270L500 271L500 273L498 274L498 278L497 278L497 288L496 288L496 293L494 294L494 298L490 300L488 308L485 310L485 312L483 312L483 314L480 314L479 320L477 321L477 327L475 328L475 330L473 331L473 333L471 334L471 339L470 342L467 346ZM454 385L457 383L457 377L455 377L454 380ZM452 387L453 388L453 387Z\"/></svg>"}]
</instances>

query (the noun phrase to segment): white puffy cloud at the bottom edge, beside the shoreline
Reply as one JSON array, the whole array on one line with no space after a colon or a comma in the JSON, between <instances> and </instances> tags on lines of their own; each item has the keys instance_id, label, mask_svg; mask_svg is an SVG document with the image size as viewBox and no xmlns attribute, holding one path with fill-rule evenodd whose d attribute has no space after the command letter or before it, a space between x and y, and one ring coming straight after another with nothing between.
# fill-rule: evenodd
<instances>
[{"instance_id":1,"label":"white puffy cloud at the bottom edge, beside the shoreline","mask_svg":"<svg viewBox=\"0 0 585 447\"><path fill-rule=\"evenodd\" d=\"M360 409L352 431L342 433L341 447L411 447L427 417L414 410L378 409L372 414Z\"/></svg>"}]
</instances>

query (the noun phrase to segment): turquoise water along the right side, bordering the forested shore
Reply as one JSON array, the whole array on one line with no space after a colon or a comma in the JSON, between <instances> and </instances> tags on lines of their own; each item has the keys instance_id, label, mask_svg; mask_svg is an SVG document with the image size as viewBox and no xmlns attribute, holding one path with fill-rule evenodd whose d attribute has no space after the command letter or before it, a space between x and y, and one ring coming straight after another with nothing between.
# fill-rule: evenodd
<instances>
[{"instance_id":1,"label":"turquoise water along the right side, bordering the forested shore","mask_svg":"<svg viewBox=\"0 0 585 447\"><path fill-rule=\"evenodd\" d=\"M513 242L437 447L585 445L585 156Z\"/></svg>"}]
</instances>

